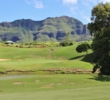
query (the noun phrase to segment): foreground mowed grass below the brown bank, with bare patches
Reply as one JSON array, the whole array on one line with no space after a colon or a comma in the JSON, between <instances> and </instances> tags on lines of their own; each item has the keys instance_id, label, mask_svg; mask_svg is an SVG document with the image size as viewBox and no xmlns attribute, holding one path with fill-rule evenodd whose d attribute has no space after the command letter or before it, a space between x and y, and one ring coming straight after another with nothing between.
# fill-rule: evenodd
<instances>
[{"instance_id":1,"label":"foreground mowed grass below the brown bank, with bare patches","mask_svg":"<svg viewBox=\"0 0 110 100\"><path fill-rule=\"evenodd\" d=\"M0 100L110 100L109 93L109 76L0 76Z\"/></svg>"}]
</instances>

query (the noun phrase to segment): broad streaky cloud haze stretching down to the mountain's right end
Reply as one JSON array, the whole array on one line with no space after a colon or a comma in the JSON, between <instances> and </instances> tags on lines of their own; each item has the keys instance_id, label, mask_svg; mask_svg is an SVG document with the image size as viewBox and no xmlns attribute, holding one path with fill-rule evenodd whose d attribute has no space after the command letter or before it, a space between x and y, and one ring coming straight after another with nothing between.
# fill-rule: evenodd
<instances>
[{"instance_id":1,"label":"broad streaky cloud haze stretching down to the mountain's right end","mask_svg":"<svg viewBox=\"0 0 110 100\"><path fill-rule=\"evenodd\" d=\"M82 19L88 23L90 22L90 16L86 13L86 9L91 9L92 5L96 5L99 0L62 0L63 4L69 7L70 11L74 16L81 16ZM84 7L82 9L82 7Z\"/></svg>"}]
</instances>

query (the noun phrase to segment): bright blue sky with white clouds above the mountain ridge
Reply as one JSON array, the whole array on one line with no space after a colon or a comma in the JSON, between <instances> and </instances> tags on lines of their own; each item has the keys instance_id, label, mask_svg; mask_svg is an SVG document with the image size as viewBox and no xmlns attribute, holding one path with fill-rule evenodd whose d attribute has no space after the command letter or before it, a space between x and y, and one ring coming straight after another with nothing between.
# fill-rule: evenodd
<instances>
[{"instance_id":1,"label":"bright blue sky with white clouds above the mountain ridge","mask_svg":"<svg viewBox=\"0 0 110 100\"><path fill-rule=\"evenodd\" d=\"M69 16L87 24L91 10L100 2L110 0L0 0L0 22L18 19L40 21L47 17Z\"/></svg>"}]
</instances>

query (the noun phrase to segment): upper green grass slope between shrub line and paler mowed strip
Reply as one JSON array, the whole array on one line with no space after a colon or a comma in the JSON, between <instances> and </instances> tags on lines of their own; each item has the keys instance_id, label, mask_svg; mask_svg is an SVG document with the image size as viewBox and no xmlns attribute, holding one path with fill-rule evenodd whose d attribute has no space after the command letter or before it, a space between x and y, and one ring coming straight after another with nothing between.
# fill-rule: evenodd
<instances>
[{"instance_id":1,"label":"upper green grass slope between shrub line and paler mowed strip","mask_svg":"<svg viewBox=\"0 0 110 100\"><path fill-rule=\"evenodd\" d=\"M85 53L77 53L76 46L67 47L47 47L47 48L14 48L1 47L0 58L9 59L71 59L77 56L85 55Z\"/></svg>"}]
</instances>

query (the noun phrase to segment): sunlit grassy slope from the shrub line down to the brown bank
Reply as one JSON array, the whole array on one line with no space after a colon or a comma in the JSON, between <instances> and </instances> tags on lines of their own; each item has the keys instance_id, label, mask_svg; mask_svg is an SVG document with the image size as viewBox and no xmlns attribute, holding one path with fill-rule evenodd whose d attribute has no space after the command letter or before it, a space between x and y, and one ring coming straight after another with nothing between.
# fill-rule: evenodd
<instances>
[{"instance_id":1,"label":"sunlit grassy slope from the shrub line down to the brown bank","mask_svg":"<svg viewBox=\"0 0 110 100\"><path fill-rule=\"evenodd\" d=\"M0 53L0 58L10 60L0 62L0 71L37 70L43 68L64 69L76 67L81 69L92 69L92 64L81 61L85 53L77 53L75 51L76 46L77 45L51 48L1 47L0 52L2 53ZM85 59L85 61L87 59Z\"/></svg>"}]
</instances>

